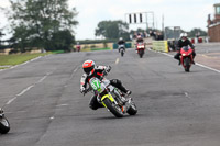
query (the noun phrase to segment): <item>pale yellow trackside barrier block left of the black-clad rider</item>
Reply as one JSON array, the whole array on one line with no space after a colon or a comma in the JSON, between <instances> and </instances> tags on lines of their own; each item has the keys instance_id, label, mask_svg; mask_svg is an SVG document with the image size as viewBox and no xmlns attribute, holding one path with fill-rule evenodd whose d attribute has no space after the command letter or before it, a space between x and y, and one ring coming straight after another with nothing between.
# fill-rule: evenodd
<instances>
[{"instance_id":1,"label":"pale yellow trackside barrier block left of the black-clad rider","mask_svg":"<svg viewBox=\"0 0 220 146\"><path fill-rule=\"evenodd\" d=\"M167 41L153 41L153 49L157 52L168 53L168 42Z\"/></svg>"}]
</instances>

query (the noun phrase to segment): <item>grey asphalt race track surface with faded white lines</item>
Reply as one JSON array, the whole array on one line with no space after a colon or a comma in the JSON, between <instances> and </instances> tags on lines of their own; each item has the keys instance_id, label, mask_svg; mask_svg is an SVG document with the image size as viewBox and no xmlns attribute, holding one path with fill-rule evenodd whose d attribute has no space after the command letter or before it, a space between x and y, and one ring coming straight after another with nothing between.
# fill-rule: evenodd
<instances>
[{"instance_id":1,"label":"grey asphalt race track surface with faded white lines","mask_svg":"<svg viewBox=\"0 0 220 146\"><path fill-rule=\"evenodd\" d=\"M79 92L81 64L111 65L108 78L132 90L135 116L92 111ZM50 55L0 71L0 106L11 131L0 146L218 146L220 74L185 72L167 55L134 49Z\"/></svg>"}]
</instances>

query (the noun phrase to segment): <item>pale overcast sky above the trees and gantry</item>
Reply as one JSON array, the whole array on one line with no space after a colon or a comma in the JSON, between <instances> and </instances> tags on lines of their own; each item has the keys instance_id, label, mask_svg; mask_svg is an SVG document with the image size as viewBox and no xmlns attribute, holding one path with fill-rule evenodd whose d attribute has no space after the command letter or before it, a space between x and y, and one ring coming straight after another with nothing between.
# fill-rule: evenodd
<instances>
[{"instance_id":1,"label":"pale overcast sky above the trees and gantry","mask_svg":"<svg viewBox=\"0 0 220 146\"><path fill-rule=\"evenodd\" d=\"M68 0L69 8L76 8L78 12L76 20L79 24L74 29L76 40L97 38L95 30L99 22L128 22L125 14L138 12L153 12L155 27L160 30L164 15L165 26L180 26L185 31L200 27L207 31L208 14L213 15L215 3L220 3L220 0ZM9 8L9 0L0 0L0 7ZM8 25L6 15L0 11L0 29L8 29ZM146 24L130 24L130 30L138 27L146 29Z\"/></svg>"}]
</instances>

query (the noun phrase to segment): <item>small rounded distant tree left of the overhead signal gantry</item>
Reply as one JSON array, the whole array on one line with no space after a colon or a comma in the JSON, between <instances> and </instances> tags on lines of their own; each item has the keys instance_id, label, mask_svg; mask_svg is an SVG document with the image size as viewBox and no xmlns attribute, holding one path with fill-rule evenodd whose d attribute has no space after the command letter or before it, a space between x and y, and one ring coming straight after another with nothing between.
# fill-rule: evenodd
<instances>
[{"instance_id":1,"label":"small rounded distant tree left of the overhead signal gantry","mask_svg":"<svg viewBox=\"0 0 220 146\"><path fill-rule=\"evenodd\" d=\"M106 38L123 37L129 40L129 24L122 21L101 21L96 29L96 36L103 36Z\"/></svg>"}]
</instances>

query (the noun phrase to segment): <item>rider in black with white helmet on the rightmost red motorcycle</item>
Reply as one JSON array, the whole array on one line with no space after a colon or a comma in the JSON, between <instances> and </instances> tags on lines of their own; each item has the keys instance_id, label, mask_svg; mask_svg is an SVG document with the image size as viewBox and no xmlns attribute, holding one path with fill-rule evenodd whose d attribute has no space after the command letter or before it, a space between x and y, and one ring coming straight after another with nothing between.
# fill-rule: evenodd
<instances>
[{"instance_id":1,"label":"rider in black with white helmet on the rightmost red motorcycle","mask_svg":"<svg viewBox=\"0 0 220 146\"><path fill-rule=\"evenodd\" d=\"M195 52L195 46L191 44L191 42L187 38L187 33L182 33L180 34L180 40L178 41L178 44L177 44L177 54L174 56L175 59L179 60L179 65L182 64L180 63L180 49L182 47L184 46L190 46L191 49L194 49L193 52L193 57L195 58L196 56L196 52ZM195 64L195 61L193 60L193 64Z\"/></svg>"}]
</instances>

